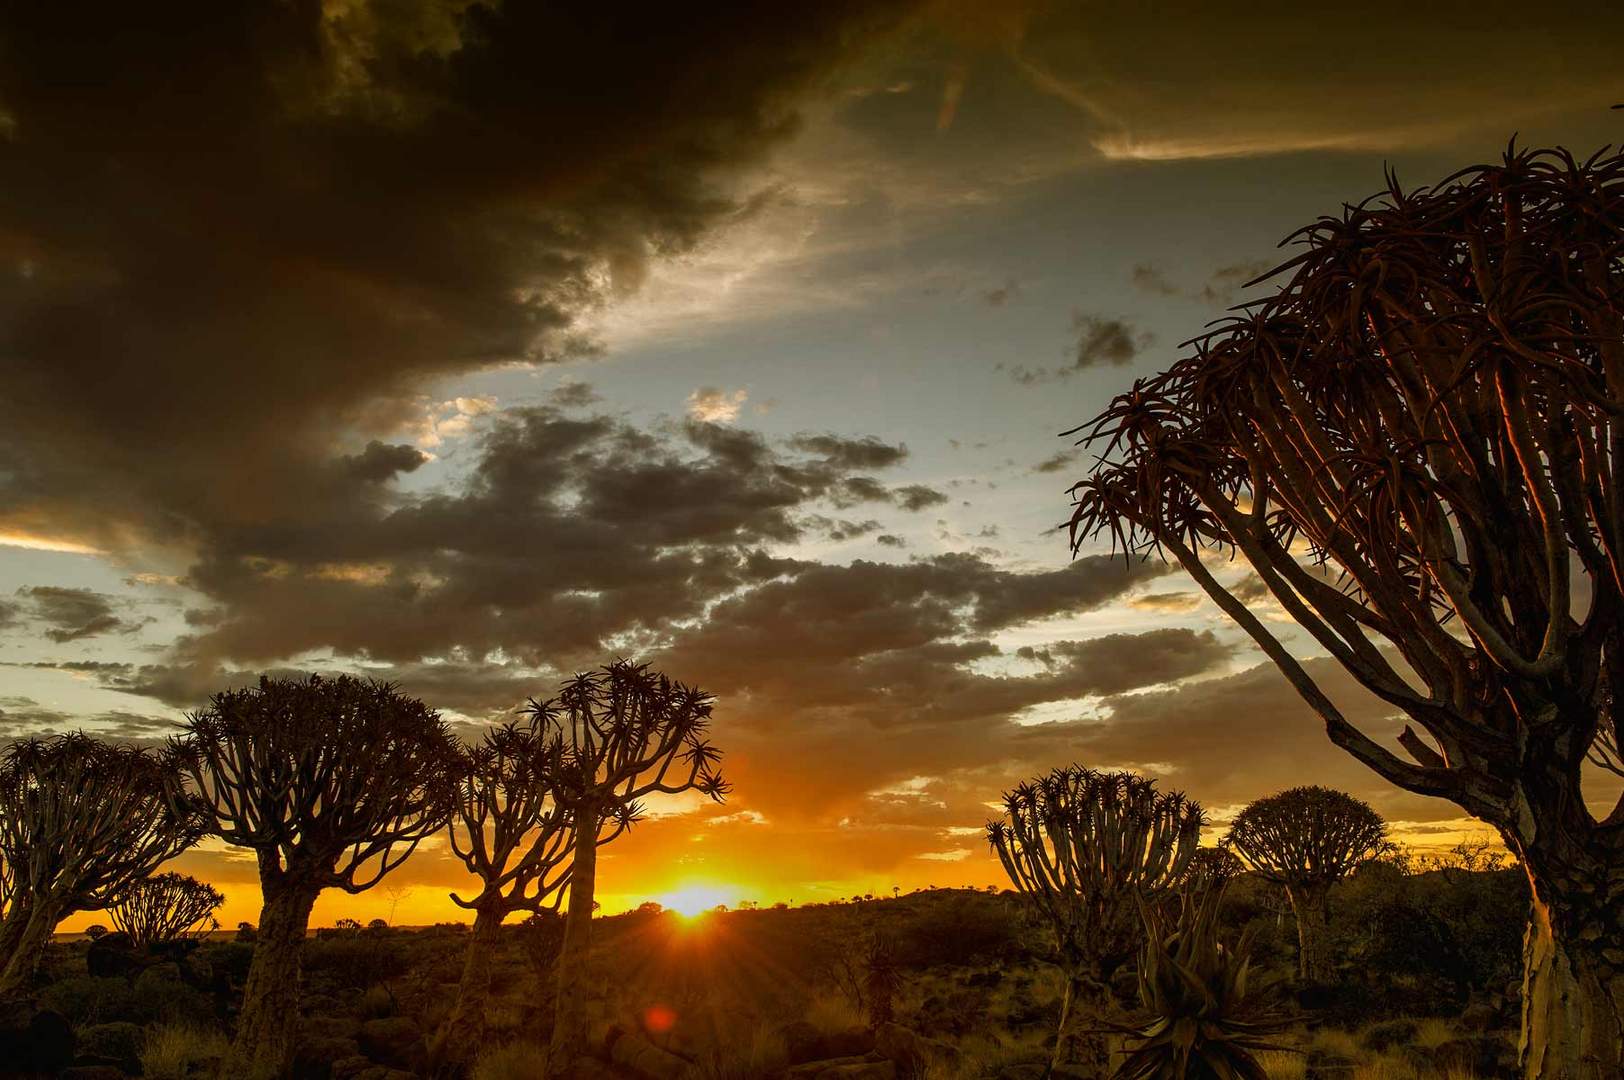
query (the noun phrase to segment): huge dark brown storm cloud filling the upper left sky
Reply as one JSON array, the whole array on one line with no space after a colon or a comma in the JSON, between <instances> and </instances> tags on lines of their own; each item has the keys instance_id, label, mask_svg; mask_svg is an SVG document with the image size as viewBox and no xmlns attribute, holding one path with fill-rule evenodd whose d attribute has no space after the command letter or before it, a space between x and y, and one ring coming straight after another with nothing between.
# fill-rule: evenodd
<instances>
[{"instance_id":1,"label":"huge dark brown storm cloud filling the upper left sky","mask_svg":"<svg viewBox=\"0 0 1624 1080\"><path fill-rule=\"evenodd\" d=\"M411 419L429 378L590 348L577 317L732 214L739 167L892 21L885 3L10 8L3 505L107 546L365 503L391 461L331 468L357 453L346 432Z\"/></svg>"}]
</instances>

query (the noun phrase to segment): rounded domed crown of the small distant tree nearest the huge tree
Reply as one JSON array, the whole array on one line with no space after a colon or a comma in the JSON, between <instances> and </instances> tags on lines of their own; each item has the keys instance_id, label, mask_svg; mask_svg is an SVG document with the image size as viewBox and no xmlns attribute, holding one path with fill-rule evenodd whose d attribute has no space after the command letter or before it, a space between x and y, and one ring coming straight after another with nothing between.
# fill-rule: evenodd
<instances>
[{"instance_id":1,"label":"rounded domed crown of the small distant tree nearest the huge tree","mask_svg":"<svg viewBox=\"0 0 1624 1080\"><path fill-rule=\"evenodd\" d=\"M1328 885L1387 846L1387 823L1366 802L1330 788L1291 788L1252 802L1224 846L1286 885Z\"/></svg>"}]
</instances>

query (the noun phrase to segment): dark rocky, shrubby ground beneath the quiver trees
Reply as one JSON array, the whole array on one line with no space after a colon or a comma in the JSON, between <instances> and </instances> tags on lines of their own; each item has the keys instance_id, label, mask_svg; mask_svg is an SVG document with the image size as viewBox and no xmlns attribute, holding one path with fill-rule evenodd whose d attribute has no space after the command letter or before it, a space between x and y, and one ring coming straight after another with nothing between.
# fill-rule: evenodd
<instances>
[{"instance_id":1,"label":"dark rocky, shrubby ground beneath the quiver trees","mask_svg":"<svg viewBox=\"0 0 1624 1080\"><path fill-rule=\"evenodd\" d=\"M1255 961L1298 1017L1281 1036L1291 1049L1267 1054L1270 1075L1509 1075L1523 903L1515 870L1376 867L1333 896L1338 981L1304 987L1289 978L1289 909L1242 877L1224 919L1236 934L1257 926ZM867 978L875 940L895 983L882 1025ZM464 944L453 924L313 935L296 1075L430 1075L429 1041L455 1000ZM549 927L505 927L477 1080L544 1070L554 950ZM601 1077L1036 1080L1059 1017L1046 934L1009 893L931 890L698 919L632 913L598 922L594 952ZM70 1054L73 1069L58 1074L70 1080L213 1077L250 955L229 935L143 955L117 937L58 942L36 1000L0 1010L0 1075L21 1075L21 1044ZM1130 976L1121 984L1127 997ZM39 1010L62 1022L41 1028ZM29 1017L32 1033L19 1030Z\"/></svg>"}]
</instances>

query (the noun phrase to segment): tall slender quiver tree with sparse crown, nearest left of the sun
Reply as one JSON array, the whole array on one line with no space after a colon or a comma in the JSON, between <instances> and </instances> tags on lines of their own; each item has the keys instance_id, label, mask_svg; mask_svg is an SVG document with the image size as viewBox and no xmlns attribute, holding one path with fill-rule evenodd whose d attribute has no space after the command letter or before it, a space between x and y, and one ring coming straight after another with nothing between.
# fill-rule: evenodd
<instances>
[{"instance_id":1,"label":"tall slender quiver tree with sparse crown, nearest left of the sun","mask_svg":"<svg viewBox=\"0 0 1624 1080\"><path fill-rule=\"evenodd\" d=\"M538 729L562 744L551 788L573 822L551 1046L555 1067L581 1046L598 848L638 819L648 796L698 791L719 802L728 793L716 771L721 752L705 737L713 702L625 659L577 676L555 698L529 702Z\"/></svg>"}]
</instances>

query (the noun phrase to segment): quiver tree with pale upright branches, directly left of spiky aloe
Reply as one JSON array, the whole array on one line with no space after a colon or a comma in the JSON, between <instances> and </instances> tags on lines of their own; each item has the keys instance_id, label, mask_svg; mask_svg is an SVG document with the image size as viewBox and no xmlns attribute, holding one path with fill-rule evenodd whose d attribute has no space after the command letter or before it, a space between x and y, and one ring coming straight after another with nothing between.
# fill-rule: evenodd
<instances>
[{"instance_id":1,"label":"quiver tree with pale upright branches, directly left of spiky aloe","mask_svg":"<svg viewBox=\"0 0 1624 1080\"><path fill-rule=\"evenodd\" d=\"M1070 765L1005 793L987 841L1049 921L1065 971L1054 1065L1104 1075L1101 1022L1111 978L1143 939L1138 905L1186 883L1200 833L1200 806L1134 773Z\"/></svg>"}]
</instances>

